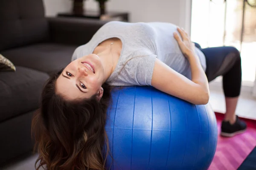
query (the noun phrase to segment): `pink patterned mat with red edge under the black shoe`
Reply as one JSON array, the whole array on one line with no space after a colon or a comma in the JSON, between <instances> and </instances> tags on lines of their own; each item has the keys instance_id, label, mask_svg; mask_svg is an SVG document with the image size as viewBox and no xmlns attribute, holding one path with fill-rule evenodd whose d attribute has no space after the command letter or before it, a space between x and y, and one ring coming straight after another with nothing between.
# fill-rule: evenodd
<instances>
[{"instance_id":1,"label":"pink patterned mat with red edge under the black shoe","mask_svg":"<svg viewBox=\"0 0 256 170\"><path fill-rule=\"evenodd\" d=\"M236 170L256 146L256 120L243 119L247 130L231 138L221 137L221 121L224 114L215 113L218 125L218 144L209 170Z\"/></svg>"}]
</instances>

